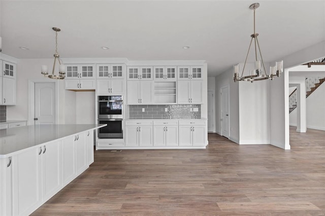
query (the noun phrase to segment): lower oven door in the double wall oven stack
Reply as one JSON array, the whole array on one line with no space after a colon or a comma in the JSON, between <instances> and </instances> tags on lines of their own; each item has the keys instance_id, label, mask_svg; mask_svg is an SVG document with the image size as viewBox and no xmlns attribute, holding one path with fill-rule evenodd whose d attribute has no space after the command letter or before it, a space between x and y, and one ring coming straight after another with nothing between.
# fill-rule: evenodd
<instances>
[{"instance_id":1,"label":"lower oven door in the double wall oven stack","mask_svg":"<svg viewBox=\"0 0 325 216\"><path fill-rule=\"evenodd\" d=\"M98 123L107 124L107 126L98 129L99 138L123 138L122 119L99 119Z\"/></svg>"}]
</instances>

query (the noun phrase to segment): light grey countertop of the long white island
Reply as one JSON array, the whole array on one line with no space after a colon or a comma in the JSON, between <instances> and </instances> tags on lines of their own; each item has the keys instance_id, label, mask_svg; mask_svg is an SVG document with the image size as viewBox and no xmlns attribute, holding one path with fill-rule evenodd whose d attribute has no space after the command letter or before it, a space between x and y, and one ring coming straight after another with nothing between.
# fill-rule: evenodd
<instances>
[{"instance_id":1,"label":"light grey countertop of the long white island","mask_svg":"<svg viewBox=\"0 0 325 216\"><path fill-rule=\"evenodd\" d=\"M0 158L7 158L20 152L40 146L46 142L60 140L105 124L29 125L0 130Z\"/></svg>"}]
</instances>

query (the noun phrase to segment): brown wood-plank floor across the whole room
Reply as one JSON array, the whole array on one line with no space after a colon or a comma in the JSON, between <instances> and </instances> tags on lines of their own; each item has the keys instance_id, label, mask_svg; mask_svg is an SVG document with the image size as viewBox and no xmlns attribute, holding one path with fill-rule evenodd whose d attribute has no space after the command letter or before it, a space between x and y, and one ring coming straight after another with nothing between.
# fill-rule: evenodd
<instances>
[{"instance_id":1,"label":"brown wood-plank floor across the whole room","mask_svg":"<svg viewBox=\"0 0 325 216\"><path fill-rule=\"evenodd\" d=\"M206 150L95 151L32 215L325 215L325 131L291 150L209 134Z\"/></svg>"}]
</instances>

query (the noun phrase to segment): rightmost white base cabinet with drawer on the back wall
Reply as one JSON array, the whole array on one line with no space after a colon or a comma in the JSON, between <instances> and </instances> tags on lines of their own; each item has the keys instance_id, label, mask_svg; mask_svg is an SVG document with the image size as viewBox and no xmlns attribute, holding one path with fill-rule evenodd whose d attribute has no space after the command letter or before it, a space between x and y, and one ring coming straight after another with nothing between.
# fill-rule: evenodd
<instances>
[{"instance_id":1,"label":"rightmost white base cabinet with drawer on the back wall","mask_svg":"<svg viewBox=\"0 0 325 216\"><path fill-rule=\"evenodd\" d=\"M180 120L179 146L206 146L207 122L206 120Z\"/></svg>"}]
</instances>

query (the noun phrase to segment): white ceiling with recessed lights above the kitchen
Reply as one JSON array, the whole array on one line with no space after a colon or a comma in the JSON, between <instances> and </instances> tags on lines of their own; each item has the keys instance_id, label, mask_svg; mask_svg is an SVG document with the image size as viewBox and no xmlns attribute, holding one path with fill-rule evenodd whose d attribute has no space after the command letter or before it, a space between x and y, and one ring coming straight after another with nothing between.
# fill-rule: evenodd
<instances>
[{"instance_id":1,"label":"white ceiling with recessed lights above the kitchen","mask_svg":"<svg viewBox=\"0 0 325 216\"><path fill-rule=\"evenodd\" d=\"M208 76L216 76L244 62L255 2L1 0L2 53L52 58L52 27L59 27L62 58L206 60ZM265 62L325 40L325 1L258 2L256 32Z\"/></svg>"}]
</instances>

